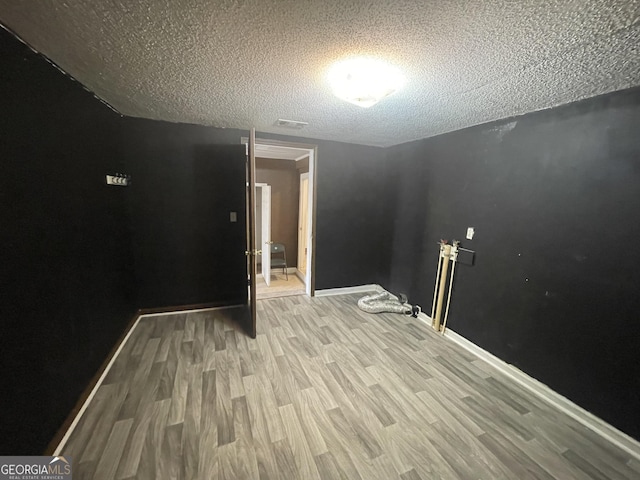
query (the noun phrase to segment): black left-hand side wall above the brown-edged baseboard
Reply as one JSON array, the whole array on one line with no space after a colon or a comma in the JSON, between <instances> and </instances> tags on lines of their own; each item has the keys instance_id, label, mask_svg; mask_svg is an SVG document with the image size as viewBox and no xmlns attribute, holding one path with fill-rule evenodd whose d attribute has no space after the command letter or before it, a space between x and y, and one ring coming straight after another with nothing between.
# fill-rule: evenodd
<instances>
[{"instance_id":1,"label":"black left-hand side wall above the brown-edged baseboard","mask_svg":"<svg viewBox=\"0 0 640 480\"><path fill-rule=\"evenodd\" d=\"M0 29L0 455L40 454L135 311L120 118Z\"/></svg>"}]
</instances>

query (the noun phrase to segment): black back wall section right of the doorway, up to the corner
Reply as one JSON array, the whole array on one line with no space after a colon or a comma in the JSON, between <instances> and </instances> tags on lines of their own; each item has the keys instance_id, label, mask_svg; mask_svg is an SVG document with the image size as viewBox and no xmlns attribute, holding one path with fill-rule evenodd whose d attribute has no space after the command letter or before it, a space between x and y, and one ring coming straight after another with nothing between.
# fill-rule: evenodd
<instances>
[{"instance_id":1,"label":"black back wall section right of the doorway, up to the corner","mask_svg":"<svg viewBox=\"0 0 640 480\"><path fill-rule=\"evenodd\" d=\"M396 200L385 149L259 134L318 146L316 289L388 283Z\"/></svg>"}]
</instances>

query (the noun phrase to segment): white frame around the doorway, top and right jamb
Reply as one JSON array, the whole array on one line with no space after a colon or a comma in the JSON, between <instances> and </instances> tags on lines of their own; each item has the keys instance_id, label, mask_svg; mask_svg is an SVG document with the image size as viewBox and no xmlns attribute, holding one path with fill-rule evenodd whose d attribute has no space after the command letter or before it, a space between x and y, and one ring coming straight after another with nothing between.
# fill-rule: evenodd
<instances>
[{"instance_id":1,"label":"white frame around the doorway, top and right jamb","mask_svg":"<svg viewBox=\"0 0 640 480\"><path fill-rule=\"evenodd\" d=\"M247 137L240 139L241 143L246 143ZM259 145L278 146L283 148L295 148L305 150L306 153L300 157L309 156L309 191L308 191L308 228L307 228L307 273L305 276L305 292L309 296L315 294L315 214L316 214L316 164L318 161L317 145L285 142L279 140L256 138L256 149ZM285 160L286 161L286 160ZM297 260L297 259L296 259Z\"/></svg>"}]
</instances>

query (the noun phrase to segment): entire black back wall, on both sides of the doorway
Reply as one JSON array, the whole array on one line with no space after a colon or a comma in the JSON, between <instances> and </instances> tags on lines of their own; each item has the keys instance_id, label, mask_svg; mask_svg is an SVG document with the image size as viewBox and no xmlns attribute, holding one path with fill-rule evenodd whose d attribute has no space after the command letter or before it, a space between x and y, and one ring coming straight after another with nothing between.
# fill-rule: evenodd
<instances>
[{"instance_id":1,"label":"entire black back wall, on both sides of the doorway","mask_svg":"<svg viewBox=\"0 0 640 480\"><path fill-rule=\"evenodd\" d=\"M212 154L207 149L215 145L243 149L239 142L247 132L133 118L121 122L126 172L133 180L128 209L138 305L237 303L244 290L229 282L235 270L228 263L228 251L239 242L244 245L244 237L237 235L244 212L239 192L233 190L239 164L225 167L221 163L210 176L207 197L197 202L193 182L202 175L193 165L197 158L206 161ZM395 187L388 181L384 149L260 133L258 138L318 145L316 289L385 284ZM232 195L235 203L228 201ZM226 205L219 212L219 223L211 224L214 231L210 234L229 228L236 232L226 243L216 242L209 249L194 247L193 232L201 229L208 217L192 207L203 200ZM235 227L228 222L227 210L231 209L239 213Z\"/></svg>"}]
</instances>

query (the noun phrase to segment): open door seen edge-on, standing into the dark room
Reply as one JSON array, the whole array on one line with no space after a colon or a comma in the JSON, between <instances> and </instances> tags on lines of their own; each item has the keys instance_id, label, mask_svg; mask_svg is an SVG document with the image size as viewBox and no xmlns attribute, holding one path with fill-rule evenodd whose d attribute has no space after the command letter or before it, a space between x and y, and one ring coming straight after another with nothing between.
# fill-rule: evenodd
<instances>
[{"instance_id":1,"label":"open door seen edge-on, standing into the dark room","mask_svg":"<svg viewBox=\"0 0 640 480\"><path fill-rule=\"evenodd\" d=\"M256 130L251 129L249 142L247 143L247 319L245 330L252 337L256 338Z\"/></svg>"}]
</instances>

